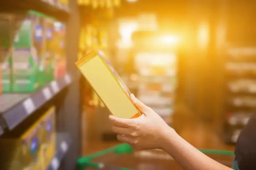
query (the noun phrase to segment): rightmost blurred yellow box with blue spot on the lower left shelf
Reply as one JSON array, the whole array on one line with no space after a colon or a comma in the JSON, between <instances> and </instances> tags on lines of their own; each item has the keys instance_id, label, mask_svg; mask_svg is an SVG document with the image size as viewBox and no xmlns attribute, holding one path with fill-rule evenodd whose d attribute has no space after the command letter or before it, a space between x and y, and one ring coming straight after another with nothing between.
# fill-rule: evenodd
<instances>
[{"instance_id":1,"label":"rightmost blurred yellow box with blue spot on the lower left shelf","mask_svg":"<svg viewBox=\"0 0 256 170\"><path fill-rule=\"evenodd\" d=\"M40 119L42 140L40 148L41 169L46 170L56 153L55 107L52 106Z\"/></svg>"}]
</instances>

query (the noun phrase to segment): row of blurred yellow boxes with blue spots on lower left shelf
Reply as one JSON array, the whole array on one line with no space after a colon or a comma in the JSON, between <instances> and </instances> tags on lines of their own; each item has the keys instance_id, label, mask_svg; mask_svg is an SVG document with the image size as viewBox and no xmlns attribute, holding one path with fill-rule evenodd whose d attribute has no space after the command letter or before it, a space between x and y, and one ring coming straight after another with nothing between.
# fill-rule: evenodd
<instances>
[{"instance_id":1,"label":"row of blurred yellow boxes with blue spots on lower left shelf","mask_svg":"<svg viewBox=\"0 0 256 170\"><path fill-rule=\"evenodd\" d=\"M56 152L55 107L20 136L1 138L0 145L0 169L46 170Z\"/></svg>"}]
</instances>

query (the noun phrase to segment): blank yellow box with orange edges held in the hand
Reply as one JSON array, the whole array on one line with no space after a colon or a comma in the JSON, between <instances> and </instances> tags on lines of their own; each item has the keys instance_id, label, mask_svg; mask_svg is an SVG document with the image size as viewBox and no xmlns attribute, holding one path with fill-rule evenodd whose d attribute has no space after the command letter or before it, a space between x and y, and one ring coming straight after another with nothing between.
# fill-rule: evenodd
<instances>
[{"instance_id":1,"label":"blank yellow box with orange edges held in the hand","mask_svg":"<svg viewBox=\"0 0 256 170\"><path fill-rule=\"evenodd\" d=\"M101 52L92 51L75 64L114 116L141 115L130 98L130 91Z\"/></svg>"}]
</instances>

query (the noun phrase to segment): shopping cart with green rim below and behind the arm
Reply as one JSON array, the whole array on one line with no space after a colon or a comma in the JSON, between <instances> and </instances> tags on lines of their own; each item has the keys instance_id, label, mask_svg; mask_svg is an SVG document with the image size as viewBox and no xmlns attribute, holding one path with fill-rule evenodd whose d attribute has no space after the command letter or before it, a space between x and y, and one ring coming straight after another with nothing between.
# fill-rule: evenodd
<instances>
[{"instance_id":1,"label":"shopping cart with green rim below and behind the arm","mask_svg":"<svg viewBox=\"0 0 256 170\"><path fill-rule=\"evenodd\" d=\"M238 170L233 151L200 150L223 165ZM162 150L138 151L122 144L101 152L79 158L79 170L182 170L171 156ZM125 167L125 168L122 168Z\"/></svg>"}]
</instances>

